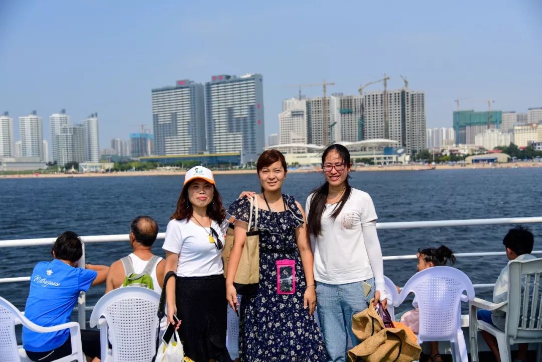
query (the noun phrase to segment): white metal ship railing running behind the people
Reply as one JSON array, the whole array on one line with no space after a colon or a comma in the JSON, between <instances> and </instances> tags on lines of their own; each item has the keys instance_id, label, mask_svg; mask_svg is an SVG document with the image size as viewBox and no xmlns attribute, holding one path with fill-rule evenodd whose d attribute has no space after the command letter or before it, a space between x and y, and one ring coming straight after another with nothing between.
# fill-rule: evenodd
<instances>
[{"instance_id":1,"label":"white metal ship railing running behind the people","mask_svg":"<svg viewBox=\"0 0 542 362\"><path fill-rule=\"evenodd\" d=\"M513 217L513 218L493 218L493 219L465 219L465 220L438 220L438 221L407 221L407 222L390 222L377 223L378 230L388 229L419 229L419 228L443 228L443 227L466 227L476 225L506 225L506 224L532 224L542 223L542 217ZM160 232L157 239L164 239L165 232ZM35 238L35 239L18 239L18 240L0 240L0 248L13 247L30 247L39 245L52 245L56 238ZM85 266L85 244L89 243L111 243L111 242L126 242L130 240L127 234L117 235L93 235L81 236L83 241L83 256L79 260L79 266ZM489 253L457 253L456 257L480 257L480 256L499 256L505 255L504 251L489 252ZM533 251L532 254L542 254L542 250ZM416 255L393 255L384 256L384 260L407 260L415 259ZM12 282L30 281L30 276L16 276L0 278L0 284ZM489 288L494 284L475 284L475 288ZM78 320L81 328L86 325L86 311L91 311L93 307L86 306L85 293L81 293L78 302Z\"/></svg>"}]
</instances>

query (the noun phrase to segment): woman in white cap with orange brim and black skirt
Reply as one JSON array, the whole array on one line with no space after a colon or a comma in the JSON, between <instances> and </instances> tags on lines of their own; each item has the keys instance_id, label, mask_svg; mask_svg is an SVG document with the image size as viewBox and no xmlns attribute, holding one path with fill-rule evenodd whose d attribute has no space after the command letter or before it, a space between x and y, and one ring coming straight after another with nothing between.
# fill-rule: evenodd
<instances>
[{"instance_id":1,"label":"woman in white cap with orange brim and black skirt","mask_svg":"<svg viewBox=\"0 0 542 362\"><path fill-rule=\"evenodd\" d=\"M165 273L177 274L166 285L167 320L174 323L177 315L185 355L197 362L218 360L225 352L222 249L228 224L211 170L193 167L186 172L163 248Z\"/></svg>"}]
</instances>

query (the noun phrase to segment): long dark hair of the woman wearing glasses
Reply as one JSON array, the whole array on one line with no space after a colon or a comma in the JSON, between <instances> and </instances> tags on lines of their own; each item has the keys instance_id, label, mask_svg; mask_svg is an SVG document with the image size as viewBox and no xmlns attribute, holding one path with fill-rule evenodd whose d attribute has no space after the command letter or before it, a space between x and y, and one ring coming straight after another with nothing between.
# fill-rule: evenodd
<instances>
[{"instance_id":1,"label":"long dark hair of the woman wearing glasses","mask_svg":"<svg viewBox=\"0 0 542 362\"><path fill-rule=\"evenodd\" d=\"M324 162L326 160L326 156L331 151L335 151L339 154L339 156L343 159L344 163L346 164L346 168L350 167L350 152L348 149L339 144L333 144L331 146L328 146L324 153L322 153L322 168L324 167ZM350 193L352 192L352 188L348 182L347 177L345 180L346 183L346 189L344 190L343 197L341 197L340 201L335 204L335 208L333 210L333 214L331 214L331 217L333 219L337 218L339 216L341 210L343 210L343 206L350 197ZM322 214L324 214L324 209L326 208L326 199L327 194L330 191L330 184L328 184L327 180L322 184L318 189L313 190L313 196L311 199L311 208L307 211L308 212L308 218L307 218L307 228L309 235L318 236L320 235L320 231L322 229Z\"/></svg>"}]
</instances>

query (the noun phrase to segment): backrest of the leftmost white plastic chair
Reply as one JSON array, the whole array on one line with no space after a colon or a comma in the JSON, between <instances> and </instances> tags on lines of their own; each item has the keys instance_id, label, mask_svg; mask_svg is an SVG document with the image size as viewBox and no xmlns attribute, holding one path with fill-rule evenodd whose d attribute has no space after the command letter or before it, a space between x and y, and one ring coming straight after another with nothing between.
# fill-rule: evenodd
<instances>
[{"instance_id":1,"label":"backrest of the leftmost white plastic chair","mask_svg":"<svg viewBox=\"0 0 542 362\"><path fill-rule=\"evenodd\" d=\"M0 360L2 362L20 362L15 335L16 320L22 320L23 314L10 302L0 297Z\"/></svg>"}]
</instances>

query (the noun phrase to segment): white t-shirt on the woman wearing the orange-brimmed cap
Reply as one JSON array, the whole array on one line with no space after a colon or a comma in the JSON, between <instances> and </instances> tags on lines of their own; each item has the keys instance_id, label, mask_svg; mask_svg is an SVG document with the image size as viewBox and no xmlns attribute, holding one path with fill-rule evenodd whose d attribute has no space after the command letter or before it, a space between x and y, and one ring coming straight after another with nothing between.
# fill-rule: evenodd
<instances>
[{"instance_id":1,"label":"white t-shirt on the woman wearing the orange-brimmed cap","mask_svg":"<svg viewBox=\"0 0 542 362\"><path fill-rule=\"evenodd\" d=\"M224 235L228 221L222 224L212 221L211 227L220 236L224 245ZM209 242L209 228L203 228L192 220L171 220L167 224L163 249L179 254L177 276L209 276L222 274L222 250Z\"/></svg>"}]
</instances>

